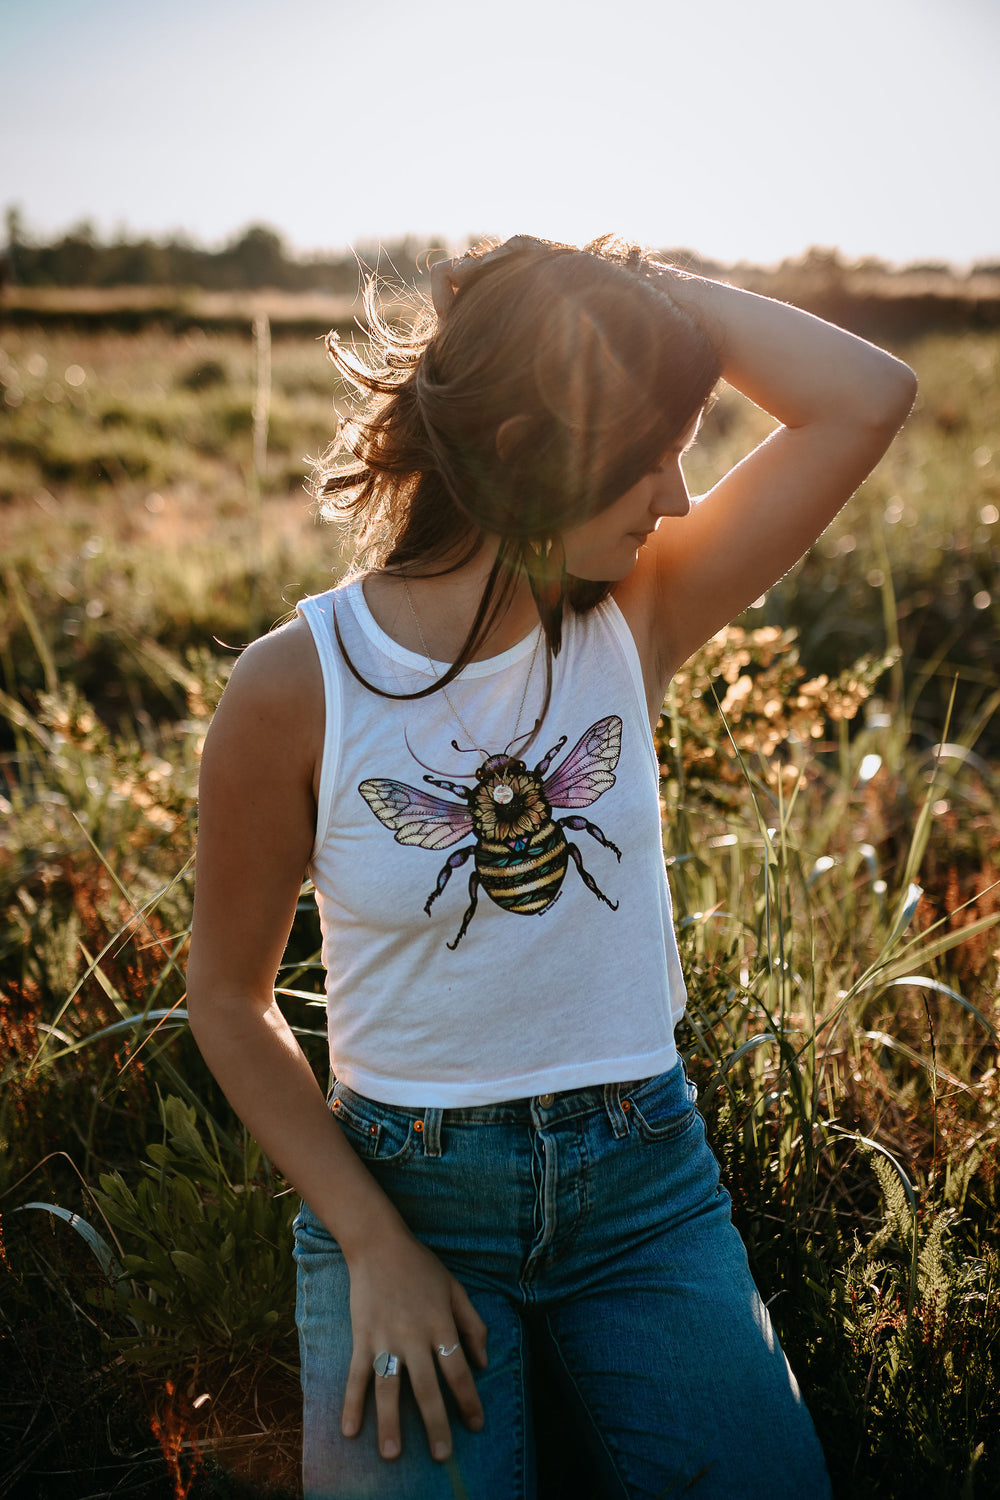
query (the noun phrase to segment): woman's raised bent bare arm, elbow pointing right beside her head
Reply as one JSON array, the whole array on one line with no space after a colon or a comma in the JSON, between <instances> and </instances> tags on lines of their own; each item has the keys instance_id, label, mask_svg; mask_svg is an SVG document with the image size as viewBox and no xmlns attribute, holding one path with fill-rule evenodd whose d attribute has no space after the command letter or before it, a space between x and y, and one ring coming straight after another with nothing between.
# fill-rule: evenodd
<instances>
[{"instance_id":1,"label":"woman's raised bent bare arm, elbow pointing right beside her head","mask_svg":"<svg viewBox=\"0 0 1000 1500\"><path fill-rule=\"evenodd\" d=\"M660 522L622 588L657 690L819 537L916 393L909 366L796 308L651 267L715 344L723 376L781 426L693 507Z\"/></svg>"}]
</instances>

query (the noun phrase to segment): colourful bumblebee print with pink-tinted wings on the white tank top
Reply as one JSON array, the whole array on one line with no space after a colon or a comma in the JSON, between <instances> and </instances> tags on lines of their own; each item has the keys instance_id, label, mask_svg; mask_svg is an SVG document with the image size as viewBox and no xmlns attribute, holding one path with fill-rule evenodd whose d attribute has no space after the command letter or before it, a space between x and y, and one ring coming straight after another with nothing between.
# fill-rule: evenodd
<instances>
[{"instance_id":1,"label":"colourful bumblebee print with pink-tinted wings on the white tank top","mask_svg":"<svg viewBox=\"0 0 1000 1500\"><path fill-rule=\"evenodd\" d=\"M462 926L448 948L459 946L475 916L480 886L505 912L535 916L558 900L570 860L580 872L588 891L618 910L618 902L600 890L583 864L583 855L565 830L588 832L621 862L622 852L586 818L553 818L553 807L589 807L615 784L615 766L622 748L622 722L616 716L598 718L580 736L570 754L546 780L567 735L541 758L534 771L523 760L502 752L487 756L475 772L474 786L424 776L424 782L453 792L460 801L432 796L405 782L375 777L361 782L358 792L381 824L396 836L396 843L421 849L448 849L460 838L475 842L457 849L438 874L438 884L424 903L430 908L454 870L475 858L469 876L469 904Z\"/></svg>"}]
</instances>

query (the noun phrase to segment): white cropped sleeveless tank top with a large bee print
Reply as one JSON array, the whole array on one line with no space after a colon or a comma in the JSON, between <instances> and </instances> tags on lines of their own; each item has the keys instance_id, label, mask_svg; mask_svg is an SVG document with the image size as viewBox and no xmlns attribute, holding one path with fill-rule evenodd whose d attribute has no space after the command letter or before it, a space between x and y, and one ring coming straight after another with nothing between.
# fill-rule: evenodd
<instances>
[{"instance_id":1,"label":"white cropped sleeveless tank top with a large bee print","mask_svg":"<svg viewBox=\"0 0 1000 1500\"><path fill-rule=\"evenodd\" d=\"M618 604L567 610L526 747L538 632L448 686L459 723L441 692L400 702L358 682L334 610L378 687L414 692L445 664L379 628L361 579L298 604L325 688L310 874L336 1077L385 1104L450 1108L667 1071L685 988Z\"/></svg>"}]
</instances>

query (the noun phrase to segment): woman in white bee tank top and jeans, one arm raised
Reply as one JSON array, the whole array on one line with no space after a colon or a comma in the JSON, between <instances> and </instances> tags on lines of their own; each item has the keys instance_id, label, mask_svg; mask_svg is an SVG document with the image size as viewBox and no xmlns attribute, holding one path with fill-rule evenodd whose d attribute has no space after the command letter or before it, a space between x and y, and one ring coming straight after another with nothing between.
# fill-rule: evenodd
<instances>
[{"instance_id":1,"label":"woman in white bee tank top and jeans, one arm raised","mask_svg":"<svg viewBox=\"0 0 1000 1500\"><path fill-rule=\"evenodd\" d=\"M534 1496L532 1389L595 1496L823 1496L673 1044L649 729L913 374L615 240L432 291L375 368L331 346L364 570L244 652L202 760L190 1020L303 1197L306 1496ZM780 426L691 507L720 375ZM273 998L306 868L328 1104Z\"/></svg>"}]
</instances>

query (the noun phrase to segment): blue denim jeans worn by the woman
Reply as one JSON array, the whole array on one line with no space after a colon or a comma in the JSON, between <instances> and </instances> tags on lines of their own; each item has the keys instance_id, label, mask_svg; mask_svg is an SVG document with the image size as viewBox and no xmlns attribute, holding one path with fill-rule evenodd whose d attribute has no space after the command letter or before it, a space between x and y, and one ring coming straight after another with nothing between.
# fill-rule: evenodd
<instances>
[{"instance_id":1,"label":"blue denim jeans worn by the woman","mask_svg":"<svg viewBox=\"0 0 1000 1500\"><path fill-rule=\"evenodd\" d=\"M337 1084L358 1156L469 1293L489 1329L486 1413L453 1413L430 1458L402 1383L403 1452L379 1458L375 1408L340 1434L348 1269L295 1220L306 1500L535 1500L535 1413L550 1450L585 1455L609 1500L822 1500L813 1422L750 1276L681 1064L658 1078L480 1108L406 1110Z\"/></svg>"}]
</instances>

